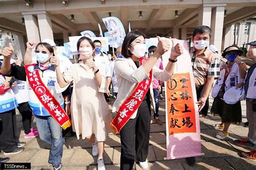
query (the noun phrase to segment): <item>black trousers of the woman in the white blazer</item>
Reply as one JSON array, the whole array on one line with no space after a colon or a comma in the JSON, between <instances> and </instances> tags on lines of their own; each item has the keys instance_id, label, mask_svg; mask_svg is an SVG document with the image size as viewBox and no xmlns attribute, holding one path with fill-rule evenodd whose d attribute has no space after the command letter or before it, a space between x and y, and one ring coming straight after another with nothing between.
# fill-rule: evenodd
<instances>
[{"instance_id":1,"label":"black trousers of the woman in the white blazer","mask_svg":"<svg viewBox=\"0 0 256 170\"><path fill-rule=\"evenodd\" d=\"M150 139L150 101L143 101L137 116L130 119L120 131L121 158L120 169L133 169L134 160L144 162L149 153Z\"/></svg>"}]
</instances>

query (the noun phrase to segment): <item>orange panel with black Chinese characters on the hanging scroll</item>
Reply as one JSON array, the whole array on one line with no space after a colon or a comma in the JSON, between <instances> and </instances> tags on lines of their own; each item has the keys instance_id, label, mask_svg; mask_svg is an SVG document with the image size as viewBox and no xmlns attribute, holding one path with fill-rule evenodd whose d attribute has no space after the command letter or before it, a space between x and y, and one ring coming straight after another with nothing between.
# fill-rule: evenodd
<instances>
[{"instance_id":1,"label":"orange panel with black Chinese characters on the hanging scroll","mask_svg":"<svg viewBox=\"0 0 256 170\"><path fill-rule=\"evenodd\" d=\"M167 82L166 94L169 135L196 132L190 74L174 74Z\"/></svg>"}]
</instances>

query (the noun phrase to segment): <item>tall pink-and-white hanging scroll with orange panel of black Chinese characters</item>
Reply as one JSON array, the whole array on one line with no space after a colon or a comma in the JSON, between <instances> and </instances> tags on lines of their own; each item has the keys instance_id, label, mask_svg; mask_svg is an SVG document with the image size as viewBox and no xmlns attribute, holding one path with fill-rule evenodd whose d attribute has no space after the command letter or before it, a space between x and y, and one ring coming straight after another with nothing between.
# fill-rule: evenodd
<instances>
[{"instance_id":1,"label":"tall pink-and-white hanging scroll with orange panel of black Chinese characters","mask_svg":"<svg viewBox=\"0 0 256 170\"><path fill-rule=\"evenodd\" d=\"M165 82L166 105L166 159L198 157L201 154L200 121L197 93L187 42L172 39L170 44L180 43L184 53L178 57L173 77ZM171 49L163 56L163 65L169 62Z\"/></svg>"}]
</instances>

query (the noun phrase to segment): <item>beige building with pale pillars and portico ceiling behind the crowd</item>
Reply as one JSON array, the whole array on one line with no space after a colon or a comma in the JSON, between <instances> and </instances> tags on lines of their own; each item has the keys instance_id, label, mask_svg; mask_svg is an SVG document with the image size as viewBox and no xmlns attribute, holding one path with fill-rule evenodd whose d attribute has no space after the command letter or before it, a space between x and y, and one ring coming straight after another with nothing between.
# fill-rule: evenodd
<instances>
[{"instance_id":1,"label":"beige building with pale pillars and portico ceiling behind the crowd","mask_svg":"<svg viewBox=\"0 0 256 170\"><path fill-rule=\"evenodd\" d=\"M15 35L22 56L26 41L52 39L62 44L84 30L99 35L98 23L105 32L102 18L109 16L119 18L126 32L130 23L132 30L141 30L147 37L185 40L191 38L194 28L207 25L213 31L210 44L219 51L233 44L234 39L239 46L255 40L254 24L242 22L256 16L255 0L0 1L0 30ZM232 39L234 24L239 31ZM247 33L247 37L240 32Z\"/></svg>"}]
</instances>

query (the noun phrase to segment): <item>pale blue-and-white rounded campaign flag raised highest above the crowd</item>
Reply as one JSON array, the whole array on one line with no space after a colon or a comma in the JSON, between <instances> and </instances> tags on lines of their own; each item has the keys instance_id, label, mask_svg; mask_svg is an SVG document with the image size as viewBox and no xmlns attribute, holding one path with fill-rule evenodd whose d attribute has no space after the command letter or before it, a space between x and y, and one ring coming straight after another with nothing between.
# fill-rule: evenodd
<instances>
[{"instance_id":1,"label":"pale blue-and-white rounded campaign flag raised highest above the crowd","mask_svg":"<svg viewBox=\"0 0 256 170\"><path fill-rule=\"evenodd\" d=\"M102 20L109 31L110 46L115 48L122 46L126 35L122 22L116 17L102 18Z\"/></svg>"}]
</instances>

